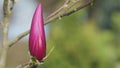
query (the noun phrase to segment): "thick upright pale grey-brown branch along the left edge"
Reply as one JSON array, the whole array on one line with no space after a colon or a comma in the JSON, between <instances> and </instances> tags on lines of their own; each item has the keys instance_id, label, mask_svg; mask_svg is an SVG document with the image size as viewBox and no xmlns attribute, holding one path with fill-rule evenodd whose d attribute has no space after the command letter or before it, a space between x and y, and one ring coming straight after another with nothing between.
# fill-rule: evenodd
<instances>
[{"instance_id":1,"label":"thick upright pale grey-brown branch along the left edge","mask_svg":"<svg viewBox=\"0 0 120 68\"><path fill-rule=\"evenodd\" d=\"M9 7L10 1L4 0L3 4L3 12L4 12L4 20L2 23L3 27L3 41L2 41L2 52L0 57L0 68L5 68L6 66L6 58L7 58L7 52L8 52L8 29L9 29L9 21L10 21L10 7Z\"/></svg>"}]
</instances>

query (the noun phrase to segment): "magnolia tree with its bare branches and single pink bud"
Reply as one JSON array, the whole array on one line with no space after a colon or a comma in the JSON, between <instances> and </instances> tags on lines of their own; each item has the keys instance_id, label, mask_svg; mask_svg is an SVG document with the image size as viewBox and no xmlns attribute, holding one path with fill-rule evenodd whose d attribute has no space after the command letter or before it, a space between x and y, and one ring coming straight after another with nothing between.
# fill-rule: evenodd
<instances>
[{"instance_id":1,"label":"magnolia tree with its bare branches and single pink bud","mask_svg":"<svg viewBox=\"0 0 120 68\"><path fill-rule=\"evenodd\" d=\"M63 5L59 7L56 11L48 15L45 19L43 19L43 11L42 4L38 3L36 10L33 15L33 19L31 22L30 30L27 30L20 35L18 35L14 40L8 41L8 30L10 24L11 12L16 3L15 0L4 0L3 4L3 12L4 19L0 22L3 30L3 40L2 40L2 52L0 57L0 68L6 67L6 58L7 52L10 47L12 47L15 43L21 40L23 37L29 34L29 51L31 57L31 61L18 65L16 68L37 68L37 66L50 55L54 47L46 54L46 40L45 40L45 32L44 25L50 23L53 20L62 18L64 16L69 16L76 11L92 4L93 0L65 0ZM10 6L12 4L12 6Z\"/></svg>"}]
</instances>

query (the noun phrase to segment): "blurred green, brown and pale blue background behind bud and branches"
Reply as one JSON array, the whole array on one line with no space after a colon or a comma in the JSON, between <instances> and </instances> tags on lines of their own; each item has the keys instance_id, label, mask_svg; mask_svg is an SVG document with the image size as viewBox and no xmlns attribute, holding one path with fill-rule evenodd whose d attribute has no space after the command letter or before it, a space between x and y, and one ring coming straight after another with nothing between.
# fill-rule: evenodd
<instances>
[{"instance_id":1,"label":"blurred green, brown and pale blue background behind bud and branches","mask_svg":"<svg viewBox=\"0 0 120 68\"><path fill-rule=\"evenodd\" d=\"M19 0L12 12L9 40L30 28L39 2L46 18L64 0ZM0 21L2 5L0 0ZM92 6L51 22L45 29L47 53L53 46L55 49L40 68L120 68L120 0L95 0ZM15 68L29 59L26 36L9 49L7 68Z\"/></svg>"}]
</instances>

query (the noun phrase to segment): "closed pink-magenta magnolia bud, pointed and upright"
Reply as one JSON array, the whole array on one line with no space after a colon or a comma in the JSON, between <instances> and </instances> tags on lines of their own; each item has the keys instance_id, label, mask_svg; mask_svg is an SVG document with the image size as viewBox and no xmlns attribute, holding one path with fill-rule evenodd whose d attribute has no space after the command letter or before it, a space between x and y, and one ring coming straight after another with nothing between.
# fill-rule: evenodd
<instances>
[{"instance_id":1,"label":"closed pink-magenta magnolia bud, pointed and upright","mask_svg":"<svg viewBox=\"0 0 120 68\"><path fill-rule=\"evenodd\" d=\"M37 6L32 19L29 36L29 50L30 54L39 61L42 61L46 56L46 40L41 4Z\"/></svg>"}]
</instances>

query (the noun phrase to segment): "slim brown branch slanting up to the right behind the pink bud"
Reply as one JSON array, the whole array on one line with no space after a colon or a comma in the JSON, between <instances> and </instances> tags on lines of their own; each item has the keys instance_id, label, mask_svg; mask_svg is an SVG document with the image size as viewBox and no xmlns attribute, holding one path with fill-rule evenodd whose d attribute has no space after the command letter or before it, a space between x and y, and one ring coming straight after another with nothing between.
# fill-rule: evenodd
<instances>
[{"instance_id":1,"label":"slim brown branch slanting up to the right behind the pink bud","mask_svg":"<svg viewBox=\"0 0 120 68\"><path fill-rule=\"evenodd\" d=\"M45 24L50 23L51 21L58 19L59 17L64 17L64 16L69 16L77 11L79 11L80 9L87 7L88 5L90 5L94 0L87 0L88 2L83 4L82 6L77 7L75 10L71 10L70 12L67 13L63 13L62 15L58 16L57 13L62 12L60 7L58 10L56 10L55 12L53 12L52 14L50 14L46 19L45 19ZM69 2L69 0L65 1L64 5L66 5ZM68 8L68 7L66 7ZM64 11L64 10L63 10ZM26 35L29 34L29 30L23 32L22 34L20 34L16 39L14 39L13 41L9 42L9 46L13 46L17 41L21 40L23 37L25 37Z\"/></svg>"}]
</instances>

